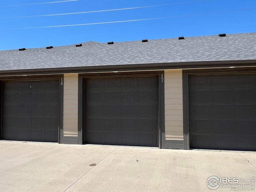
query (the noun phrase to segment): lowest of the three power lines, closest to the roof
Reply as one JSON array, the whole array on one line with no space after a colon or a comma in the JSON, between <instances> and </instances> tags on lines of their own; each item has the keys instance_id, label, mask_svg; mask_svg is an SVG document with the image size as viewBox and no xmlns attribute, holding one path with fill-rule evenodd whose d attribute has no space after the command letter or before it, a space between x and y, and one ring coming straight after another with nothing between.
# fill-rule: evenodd
<instances>
[{"instance_id":1,"label":"lowest of the three power lines, closest to the roof","mask_svg":"<svg viewBox=\"0 0 256 192\"><path fill-rule=\"evenodd\" d=\"M8 29L0 29L0 30L38 29L38 28L54 28L54 27L70 27L70 26L84 26L84 25L110 24L110 23L122 23L122 22L134 22L134 21L146 21L146 20L156 20L156 19L167 19L167 18L178 18L178 17L188 17L188 16L200 16L200 15L220 14L220 13L229 13L229 12L238 12L238 11L248 11L248 10L256 10L256 8L252 8L252 9L242 9L242 10L231 10L231 11L222 11L222 12L213 12L213 13L181 15L181 16L148 18L148 19L124 20L124 21L110 21L110 22L86 23L86 24L72 24L72 25L57 25L57 26L41 26L41 27L25 27L25 28L8 28Z\"/></svg>"}]
</instances>

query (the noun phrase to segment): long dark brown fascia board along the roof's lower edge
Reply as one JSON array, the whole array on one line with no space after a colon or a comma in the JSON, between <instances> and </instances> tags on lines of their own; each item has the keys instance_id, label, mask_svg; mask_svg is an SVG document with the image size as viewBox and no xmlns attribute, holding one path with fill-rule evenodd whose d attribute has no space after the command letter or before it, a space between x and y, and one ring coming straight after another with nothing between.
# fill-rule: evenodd
<instances>
[{"instance_id":1,"label":"long dark brown fascia board along the roof's lower edge","mask_svg":"<svg viewBox=\"0 0 256 192\"><path fill-rule=\"evenodd\" d=\"M0 71L0 76L256 66L256 60L174 62Z\"/></svg>"}]
</instances>

